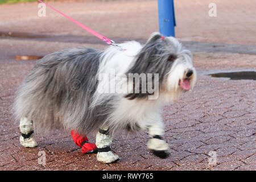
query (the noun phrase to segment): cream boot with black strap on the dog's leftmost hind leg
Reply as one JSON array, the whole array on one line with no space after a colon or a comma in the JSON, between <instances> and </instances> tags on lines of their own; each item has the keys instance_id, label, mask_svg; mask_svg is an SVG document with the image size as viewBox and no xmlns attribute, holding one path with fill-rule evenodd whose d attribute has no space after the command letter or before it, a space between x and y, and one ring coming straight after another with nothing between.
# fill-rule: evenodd
<instances>
[{"instance_id":1,"label":"cream boot with black strap on the dog's leftmost hind leg","mask_svg":"<svg viewBox=\"0 0 256 182\"><path fill-rule=\"evenodd\" d=\"M22 117L19 122L19 129L21 136L19 138L20 144L24 147L36 147L38 144L33 138L33 122L26 117Z\"/></svg>"}]
</instances>

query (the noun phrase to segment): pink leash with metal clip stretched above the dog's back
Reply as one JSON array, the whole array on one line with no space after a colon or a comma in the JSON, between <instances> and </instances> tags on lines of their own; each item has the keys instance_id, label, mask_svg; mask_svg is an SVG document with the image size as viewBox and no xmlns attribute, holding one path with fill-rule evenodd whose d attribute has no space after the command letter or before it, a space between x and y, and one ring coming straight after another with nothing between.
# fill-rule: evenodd
<instances>
[{"instance_id":1,"label":"pink leash with metal clip stretched above the dog's back","mask_svg":"<svg viewBox=\"0 0 256 182\"><path fill-rule=\"evenodd\" d=\"M109 44L109 46L116 46L118 47L119 49L121 47L119 47L117 44L115 44L115 42L109 38L106 38L105 36L101 35L101 34L98 34L98 32L96 31L93 31L92 29L90 29L89 27L86 27L84 24L80 23L79 21L71 18L70 16L62 13L61 11L55 9L54 7L52 7L51 5L48 5L47 3L43 2L42 0L38 0L39 2L41 3L44 3L44 5L48 6L49 8L51 8L52 10L56 11L57 13L59 13L60 15L63 15L65 18L71 20L71 22L77 24L78 26L80 26L82 29L88 31L90 34L96 36L98 39L102 40L103 42ZM122 49L122 48L121 48Z\"/></svg>"}]
</instances>

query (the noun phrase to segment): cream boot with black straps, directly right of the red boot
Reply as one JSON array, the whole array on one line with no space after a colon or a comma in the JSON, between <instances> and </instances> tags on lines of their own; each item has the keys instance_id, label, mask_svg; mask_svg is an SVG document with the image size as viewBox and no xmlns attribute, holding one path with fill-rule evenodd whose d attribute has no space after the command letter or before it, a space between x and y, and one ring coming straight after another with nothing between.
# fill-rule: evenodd
<instances>
[{"instance_id":1,"label":"cream boot with black straps, directly right of the red boot","mask_svg":"<svg viewBox=\"0 0 256 182\"><path fill-rule=\"evenodd\" d=\"M98 148L97 160L102 163L113 163L119 159L118 155L113 154L110 150L112 136L108 132L108 128L100 129L96 135L96 146Z\"/></svg>"}]
</instances>

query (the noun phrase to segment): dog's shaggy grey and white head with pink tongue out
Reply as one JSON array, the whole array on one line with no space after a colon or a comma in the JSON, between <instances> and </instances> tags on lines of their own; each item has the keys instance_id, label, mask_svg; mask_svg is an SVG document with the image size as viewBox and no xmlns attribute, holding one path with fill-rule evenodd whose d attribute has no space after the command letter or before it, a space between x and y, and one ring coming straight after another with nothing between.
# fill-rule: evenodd
<instances>
[{"instance_id":1,"label":"dog's shaggy grey and white head with pink tongue out","mask_svg":"<svg viewBox=\"0 0 256 182\"><path fill-rule=\"evenodd\" d=\"M138 53L129 73L158 74L160 94L172 93L177 96L182 91L192 89L196 82L191 52L184 49L177 39L163 37L156 32Z\"/></svg>"}]
</instances>

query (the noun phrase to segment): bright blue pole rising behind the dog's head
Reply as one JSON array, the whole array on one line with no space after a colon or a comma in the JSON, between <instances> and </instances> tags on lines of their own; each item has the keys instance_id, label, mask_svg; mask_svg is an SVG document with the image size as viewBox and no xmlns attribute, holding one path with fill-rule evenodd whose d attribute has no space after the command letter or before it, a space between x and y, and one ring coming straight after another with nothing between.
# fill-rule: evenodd
<instances>
[{"instance_id":1,"label":"bright blue pole rising behind the dog's head","mask_svg":"<svg viewBox=\"0 0 256 182\"><path fill-rule=\"evenodd\" d=\"M174 0L158 0L159 31L163 36L175 36Z\"/></svg>"}]
</instances>

